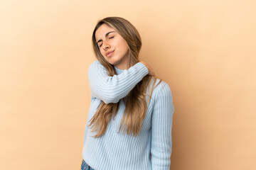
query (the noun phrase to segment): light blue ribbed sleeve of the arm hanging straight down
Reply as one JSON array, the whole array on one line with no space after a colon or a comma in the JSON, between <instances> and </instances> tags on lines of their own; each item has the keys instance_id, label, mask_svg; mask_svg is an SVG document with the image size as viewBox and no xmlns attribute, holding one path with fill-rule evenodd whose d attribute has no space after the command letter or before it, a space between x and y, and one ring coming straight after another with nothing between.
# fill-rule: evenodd
<instances>
[{"instance_id":1,"label":"light blue ribbed sleeve of the arm hanging straight down","mask_svg":"<svg viewBox=\"0 0 256 170\"><path fill-rule=\"evenodd\" d=\"M171 128L174 114L171 89L159 84L151 118L151 166L152 170L169 170L171 165Z\"/></svg>"}]
</instances>

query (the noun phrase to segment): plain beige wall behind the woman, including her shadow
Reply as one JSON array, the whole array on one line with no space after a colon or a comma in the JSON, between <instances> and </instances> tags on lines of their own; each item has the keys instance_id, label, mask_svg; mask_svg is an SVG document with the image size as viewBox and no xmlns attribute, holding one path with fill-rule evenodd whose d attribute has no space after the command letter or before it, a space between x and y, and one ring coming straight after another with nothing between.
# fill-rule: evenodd
<instances>
[{"instance_id":1,"label":"plain beige wall behind the woman, including her shadow","mask_svg":"<svg viewBox=\"0 0 256 170\"><path fill-rule=\"evenodd\" d=\"M0 169L80 169L97 21L121 16L174 98L171 169L256 169L256 1L0 1Z\"/></svg>"}]
</instances>

